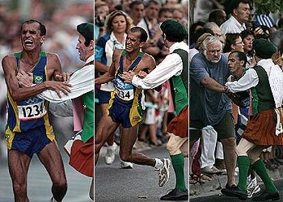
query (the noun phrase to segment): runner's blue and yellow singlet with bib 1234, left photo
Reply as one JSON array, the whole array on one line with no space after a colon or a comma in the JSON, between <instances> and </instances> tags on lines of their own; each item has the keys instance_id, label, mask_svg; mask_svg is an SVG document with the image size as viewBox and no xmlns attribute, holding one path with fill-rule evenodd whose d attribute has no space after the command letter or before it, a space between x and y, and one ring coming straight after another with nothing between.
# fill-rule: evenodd
<instances>
[{"instance_id":1,"label":"runner's blue and yellow singlet with bib 1234, left photo","mask_svg":"<svg viewBox=\"0 0 283 202\"><path fill-rule=\"evenodd\" d=\"M17 70L21 69L21 55L22 53L14 54ZM33 73L33 84L40 84L49 80L46 61L46 53L41 52L38 63L30 70ZM37 96L15 102L8 91L8 124L5 130L8 148L11 147L16 132L27 132L40 126L44 126L46 136L51 141L54 139L53 128L49 123L48 107L49 102Z\"/></svg>"}]
</instances>

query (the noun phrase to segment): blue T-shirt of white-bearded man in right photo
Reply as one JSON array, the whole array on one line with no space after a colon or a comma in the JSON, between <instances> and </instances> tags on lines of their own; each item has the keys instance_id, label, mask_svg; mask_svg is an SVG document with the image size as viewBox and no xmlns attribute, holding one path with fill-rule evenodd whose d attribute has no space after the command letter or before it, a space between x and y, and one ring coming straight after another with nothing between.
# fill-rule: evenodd
<instances>
[{"instance_id":1,"label":"blue T-shirt of white-bearded man in right photo","mask_svg":"<svg viewBox=\"0 0 283 202\"><path fill-rule=\"evenodd\" d=\"M225 85L230 75L228 55L221 54L218 63L206 60L202 53L191 59L189 66L189 114L191 121L202 121L205 126L218 124L227 110L232 109L230 98L225 93L218 93L204 87L204 76L210 76L221 85Z\"/></svg>"}]
</instances>

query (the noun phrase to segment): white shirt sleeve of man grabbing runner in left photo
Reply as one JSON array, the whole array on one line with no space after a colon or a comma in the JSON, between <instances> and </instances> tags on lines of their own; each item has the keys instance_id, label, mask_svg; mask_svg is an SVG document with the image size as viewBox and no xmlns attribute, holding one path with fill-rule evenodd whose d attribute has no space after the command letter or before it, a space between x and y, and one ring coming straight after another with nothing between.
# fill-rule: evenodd
<instances>
[{"instance_id":1,"label":"white shirt sleeve of man grabbing runner in left photo","mask_svg":"<svg viewBox=\"0 0 283 202\"><path fill-rule=\"evenodd\" d=\"M94 60L94 56L89 57L85 63L89 63ZM61 93L62 98L59 98L57 93L53 90L46 90L38 94L39 98L47 100L49 102L60 103L66 100L78 98L79 96L94 90L94 65L89 65L77 70L70 77L70 93L66 96Z\"/></svg>"}]
</instances>

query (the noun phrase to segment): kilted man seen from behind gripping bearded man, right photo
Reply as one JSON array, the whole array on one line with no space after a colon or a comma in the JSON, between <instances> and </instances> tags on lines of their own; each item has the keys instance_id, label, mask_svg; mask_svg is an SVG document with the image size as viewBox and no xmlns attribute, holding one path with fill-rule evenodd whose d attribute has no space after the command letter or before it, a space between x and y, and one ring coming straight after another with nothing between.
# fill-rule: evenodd
<instances>
[{"instance_id":1,"label":"kilted man seen from behind gripping bearded man, right photo","mask_svg":"<svg viewBox=\"0 0 283 202\"><path fill-rule=\"evenodd\" d=\"M224 188L221 192L229 197L246 200L247 173L252 166L265 184L265 190L254 195L252 201L270 199L275 201L280 199L280 194L259 156L262 149L270 145L283 145L283 72L271 59L276 51L271 42L257 39L252 46L255 51L256 66L247 70L239 81L226 83L227 91L230 93L251 89L252 118L247 122L247 128L236 148L239 182L234 188Z\"/></svg>"}]
</instances>

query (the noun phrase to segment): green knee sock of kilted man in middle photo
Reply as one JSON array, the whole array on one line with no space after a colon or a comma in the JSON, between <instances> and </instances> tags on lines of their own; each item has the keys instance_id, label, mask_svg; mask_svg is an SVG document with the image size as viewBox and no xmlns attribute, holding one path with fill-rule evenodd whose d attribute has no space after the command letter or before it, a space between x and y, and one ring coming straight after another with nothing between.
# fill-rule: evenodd
<instances>
[{"instance_id":1,"label":"green knee sock of kilted man in middle photo","mask_svg":"<svg viewBox=\"0 0 283 202\"><path fill-rule=\"evenodd\" d=\"M172 159L172 165L176 175L175 188L183 192L187 190L186 182L185 182L185 171L184 171L185 170L184 155L181 153L181 154L172 155L170 157Z\"/></svg>"}]
</instances>

